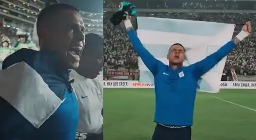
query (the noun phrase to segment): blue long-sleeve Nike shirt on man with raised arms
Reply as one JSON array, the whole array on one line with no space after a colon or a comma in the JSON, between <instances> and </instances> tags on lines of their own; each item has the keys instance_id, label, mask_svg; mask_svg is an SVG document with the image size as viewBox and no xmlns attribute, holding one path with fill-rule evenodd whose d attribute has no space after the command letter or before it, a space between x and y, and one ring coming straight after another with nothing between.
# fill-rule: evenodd
<instances>
[{"instance_id":1,"label":"blue long-sleeve Nike shirt on man with raised arms","mask_svg":"<svg viewBox=\"0 0 256 140\"><path fill-rule=\"evenodd\" d=\"M173 70L170 66L155 59L136 36L128 30L133 49L141 57L146 67L154 75L155 118L154 122L173 126L192 126L197 81L208 70L236 47L229 41L218 51L190 66ZM183 72L184 76L179 74Z\"/></svg>"}]
</instances>

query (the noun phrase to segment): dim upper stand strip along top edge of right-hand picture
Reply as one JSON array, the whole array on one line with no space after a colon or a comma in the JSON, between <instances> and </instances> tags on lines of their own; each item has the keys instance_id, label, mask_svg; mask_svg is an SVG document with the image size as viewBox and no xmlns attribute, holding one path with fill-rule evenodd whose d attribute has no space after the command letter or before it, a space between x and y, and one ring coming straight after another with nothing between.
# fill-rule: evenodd
<instances>
[{"instance_id":1,"label":"dim upper stand strip along top edge of right-hand picture","mask_svg":"<svg viewBox=\"0 0 256 140\"><path fill-rule=\"evenodd\" d=\"M137 9L255 10L254 0L129 0ZM119 8L119 0L104 1L104 8Z\"/></svg>"}]
</instances>

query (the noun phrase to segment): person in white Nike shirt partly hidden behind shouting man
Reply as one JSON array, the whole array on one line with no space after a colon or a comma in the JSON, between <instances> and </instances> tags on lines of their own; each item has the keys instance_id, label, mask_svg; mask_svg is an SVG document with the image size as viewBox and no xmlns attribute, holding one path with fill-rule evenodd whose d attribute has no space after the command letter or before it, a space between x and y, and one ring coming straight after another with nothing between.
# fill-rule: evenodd
<instances>
[{"instance_id":1,"label":"person in white Nike shirt partly hidden behind shouting man","mask_svg":"<svg viewBox=\"0 0 256 140\"><path fill-rule=\"evenodd\" d=\"M58 0L48 0L46 7L58 4ZM34 26L33 41L38 42L37 26ZM102 69L103 39L97 34L86 34L86 44L77 70L71 70L71 83L79 102L79 124L76 140L103 139L103 87L96 77ZM39 48L40 49L40 48Z\"/></svg>"}]
</instances>

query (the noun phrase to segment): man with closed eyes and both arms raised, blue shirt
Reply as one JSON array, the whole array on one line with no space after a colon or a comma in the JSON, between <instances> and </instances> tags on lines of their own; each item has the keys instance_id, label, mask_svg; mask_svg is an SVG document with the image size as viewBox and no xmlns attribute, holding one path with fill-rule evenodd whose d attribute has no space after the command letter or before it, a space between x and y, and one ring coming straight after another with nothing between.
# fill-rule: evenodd
<instances>
[{"instance_id":1,"label":"man with closed eyes and both arms raised, blue shirt","mask_svg":"<svg viewBox=\"0 0 256 140\"><path fill-rule=\"evenodd\" d=\"M126 18L123 23L133 49L154 75L154 122L157 125L152 140L191 140L191 126L193 124L198 79L251 34L251 22L246 22L242 31L219 50L189 66L183 66L183 61L185 60L184 47L178 43L171 45L167 54L169 65L165 65L143 47L133 30L129 9L124 12Z\"/></svg>"}]
</instances>

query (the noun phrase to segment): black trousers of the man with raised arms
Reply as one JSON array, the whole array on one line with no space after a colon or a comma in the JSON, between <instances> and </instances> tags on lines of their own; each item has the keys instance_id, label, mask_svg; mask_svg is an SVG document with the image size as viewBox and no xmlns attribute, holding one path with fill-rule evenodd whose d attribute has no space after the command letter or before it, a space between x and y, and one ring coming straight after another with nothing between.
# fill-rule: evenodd
<instances>
[{"instance_id":1,"label":"black trousers of the man with raised arms","mask_svg":"<svg viewBox=\"0 0 256 140\"><path fill-rule=\"evenodd\" d=\"M169 128L157 124L152 140L191 140L191 127Z\"/></svg>"}]
</instances>

